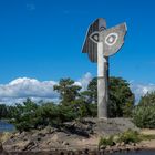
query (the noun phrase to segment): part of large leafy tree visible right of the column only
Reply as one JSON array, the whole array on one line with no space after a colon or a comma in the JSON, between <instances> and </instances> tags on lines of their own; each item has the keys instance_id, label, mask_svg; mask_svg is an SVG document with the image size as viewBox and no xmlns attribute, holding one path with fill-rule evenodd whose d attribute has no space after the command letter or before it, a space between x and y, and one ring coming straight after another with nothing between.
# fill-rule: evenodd
<instances>
[{"instance_id":1,"label":"part of large leafy tree visible right of the column only","mask_svg":"<svg viewBox=\"0 0 155 155\"><path fill-rule=\"evenodd\" d=\"M122 78L110 79L108 114L111 117L131 116L134 100L134 94L126 80Z\"/></svg>"}]
</instances>

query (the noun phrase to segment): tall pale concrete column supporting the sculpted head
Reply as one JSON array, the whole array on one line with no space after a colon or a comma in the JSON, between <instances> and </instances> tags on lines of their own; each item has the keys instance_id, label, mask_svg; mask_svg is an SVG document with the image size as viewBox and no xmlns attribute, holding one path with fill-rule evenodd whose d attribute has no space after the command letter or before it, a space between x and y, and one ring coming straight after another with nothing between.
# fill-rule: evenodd
<instances>
[{"instance_id":1,"label":"tall pale concrete column supporting the sculpted head","mask_svg":"<svg viewBox=\"0 0 155 155\"><path fill-rule=\"evenodd\" d=\"M97 116L107 118L108 58L103 56L103 43L97 43Z\"/></svg>"}]
</instances>

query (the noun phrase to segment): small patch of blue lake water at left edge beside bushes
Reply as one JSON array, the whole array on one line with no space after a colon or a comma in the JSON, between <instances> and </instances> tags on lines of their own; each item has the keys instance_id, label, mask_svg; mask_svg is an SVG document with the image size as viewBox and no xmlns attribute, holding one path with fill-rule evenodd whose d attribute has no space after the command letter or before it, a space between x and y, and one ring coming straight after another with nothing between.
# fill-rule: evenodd
<instances>
[{"instance_id":1,"label":"small patch of blue lake water at left edge beside bushes","mask_svg":"<svg viewBox=\"0 0 155 155\"><path fill-rule=\"evenodd\" d=\"M0 132L12 132L14 131L14 126L7 122L0 121Z\"/></svg>"}]
</instances>

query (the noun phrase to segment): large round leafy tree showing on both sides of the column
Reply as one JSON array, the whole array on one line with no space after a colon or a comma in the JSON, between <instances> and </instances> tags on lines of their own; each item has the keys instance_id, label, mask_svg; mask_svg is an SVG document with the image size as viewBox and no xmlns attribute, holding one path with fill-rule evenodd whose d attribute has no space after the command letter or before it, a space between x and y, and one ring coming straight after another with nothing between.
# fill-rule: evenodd
<instances>
[{"instance_id":1,"label":"large round leafy tree showing on both sides of the column","mask_svg":"<svg viewBox=\"0 0 155 155\"><path fill-rule=\"evenodd\" d=\"M89 103L97 103L97 79L94 78L87 91L83 92L85 101ZM130 89L127 81L121 78L110 78L110 103L108 116L122 117L131 116L134 106L134 94Z\"/></svg>"}]
</instances>

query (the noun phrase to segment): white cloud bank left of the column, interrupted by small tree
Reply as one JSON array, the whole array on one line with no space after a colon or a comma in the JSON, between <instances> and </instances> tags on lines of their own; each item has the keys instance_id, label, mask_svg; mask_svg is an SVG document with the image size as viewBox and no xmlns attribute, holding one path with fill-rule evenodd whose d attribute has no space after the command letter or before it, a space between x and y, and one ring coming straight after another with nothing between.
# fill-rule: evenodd
<instances>
[{"instance_id":1,"label":"white cloud bank left of the column, interrupted by small tree","mask_svg":"<svg viewBox=\"0 0 155 155\"><path fill-rule=\"evenodd\" d=\"M86 90L91 81L91 73L86 73L82 79L75 82L76 85ZM0 84L0 103L21 103L27 97L33 101L53 101L59 102L59 94L53 91L56 81L39 81L37 79L19 78L8 84Z\"/></svg>"}]
</instances>

